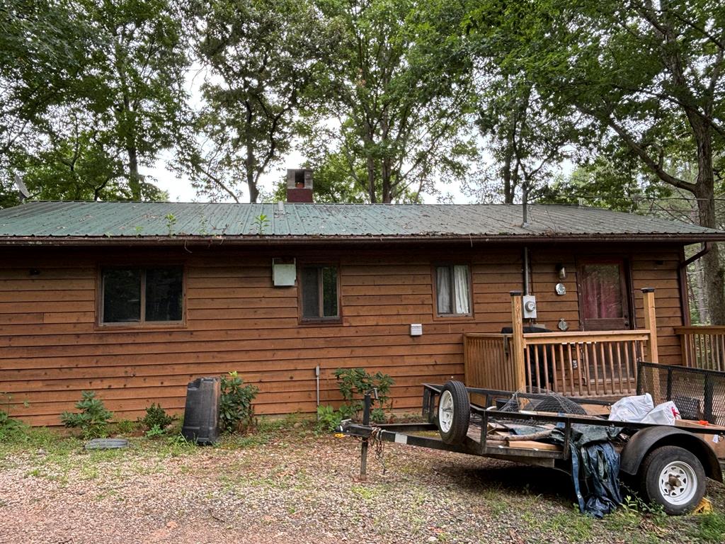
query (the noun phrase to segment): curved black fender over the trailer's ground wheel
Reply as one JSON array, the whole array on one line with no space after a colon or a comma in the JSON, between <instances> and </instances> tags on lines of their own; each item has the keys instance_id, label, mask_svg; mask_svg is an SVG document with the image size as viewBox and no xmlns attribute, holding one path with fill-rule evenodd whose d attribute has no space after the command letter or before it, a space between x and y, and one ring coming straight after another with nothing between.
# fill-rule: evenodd
<instances>
[{"instance_id":1,"label":"curved black fender over the trailer's ground wheel","mask_svg":"<svg viewBox=\"0 0 725 544\"><path fill-rule=\"evenodd\" d=\"M722 482L722 471L715 452L691 432L671 426L653 426L634 434L621 451L620 471L634 476L647 454L660 446L679 446L692 452L703 463L705 474Z\"/></svg>"}]
</instances>

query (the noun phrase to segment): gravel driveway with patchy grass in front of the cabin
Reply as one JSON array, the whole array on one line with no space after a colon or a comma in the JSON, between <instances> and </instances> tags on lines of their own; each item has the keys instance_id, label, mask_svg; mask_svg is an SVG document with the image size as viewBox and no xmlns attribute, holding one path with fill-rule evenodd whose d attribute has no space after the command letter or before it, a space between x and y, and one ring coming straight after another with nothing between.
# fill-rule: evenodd
<instances>
[{"instance_id":1,"label":"gravel driveway with patchy grass in front of the cabin","mask_svg":"<svg viewBox=\"0 0 725 544\"><path fill-rule=\"evenodd\" d=\"M355 477L358 451L353 439L316 437L291 425L216 448L139 438L128 450L85 453L78 440L48 434L0 444L0 543L633 544L708 537L703 516L665 519L624 509L589 519L573 510L564 474L455 453L387 444L385 474L373 454L363 483ZM711 484L708 495L725 511L722 485ZM721 521L719 514L709 518Z\"/></svg>"}]
</instances>

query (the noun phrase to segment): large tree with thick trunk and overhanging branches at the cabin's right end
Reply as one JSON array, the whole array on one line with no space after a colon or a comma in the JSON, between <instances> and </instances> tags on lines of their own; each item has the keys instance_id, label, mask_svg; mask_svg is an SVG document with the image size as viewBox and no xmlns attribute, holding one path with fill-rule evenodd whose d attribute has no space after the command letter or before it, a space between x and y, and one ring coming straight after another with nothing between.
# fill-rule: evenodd
<instances>
[{"instance_id":1,"label":"large tree with thick trunk and overhanging branches at the cabin's right end","mask_svg":"<svg viewBox=\"0 0 725 544\"><path fill-rule=\"evenodd\" d=\"M715 227L725 146L725 8L716 0L484 1L468 28L503 73L523 75L554 108L574 107L597 149L697 199ZM624 151L624 152L623 152ZM697 165L688 181L679 162ZM725 323L717 246L703 257L711 319Z\"/></svg>"}]
</instances>

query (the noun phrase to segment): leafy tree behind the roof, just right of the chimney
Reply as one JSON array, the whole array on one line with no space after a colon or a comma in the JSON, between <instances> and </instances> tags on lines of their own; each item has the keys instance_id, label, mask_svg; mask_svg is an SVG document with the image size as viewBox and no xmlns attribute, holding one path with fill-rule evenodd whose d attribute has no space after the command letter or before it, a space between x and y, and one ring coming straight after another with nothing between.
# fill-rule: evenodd
<instances>
[{"instance_id":1,"label":"leafy tree behind the roof, just right of the chimney","mask_svg":"<svg viewBox=\"0 0 725 544\"><path fill-rule=\"evenodd\" d=\"M476 147L465 133L470 61L450 35L461 7L438 0L318 5L341 35L320 82L328 99L311 116L308 147L323 146L337 164L347 163L367 202L417 201L463 176Z\"/></svg>"}]
</instances>

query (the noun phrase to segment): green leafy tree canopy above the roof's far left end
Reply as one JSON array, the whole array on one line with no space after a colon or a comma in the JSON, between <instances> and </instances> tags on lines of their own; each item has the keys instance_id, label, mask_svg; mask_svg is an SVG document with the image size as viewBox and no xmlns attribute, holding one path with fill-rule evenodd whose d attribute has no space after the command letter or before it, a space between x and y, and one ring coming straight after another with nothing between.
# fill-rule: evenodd
<instances>
[{"instance_id":1,"label":"green leafy tree canopy above the roof's far left end","mask_svg":"<svg viewBox=\"0 0 725 544\"><path fill-rule=\"evenodd\" d=\"M43 199L162 197L139 167L153 165L182 132L188 62L178 5L37 4L41 11L27 17L14 10L5 36L8 54L18 56L3 63L0 79L8 178L21 175Z\"/></svg>"}]
</instances>

